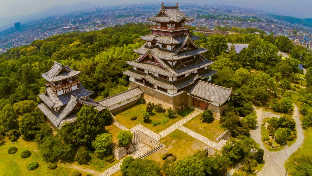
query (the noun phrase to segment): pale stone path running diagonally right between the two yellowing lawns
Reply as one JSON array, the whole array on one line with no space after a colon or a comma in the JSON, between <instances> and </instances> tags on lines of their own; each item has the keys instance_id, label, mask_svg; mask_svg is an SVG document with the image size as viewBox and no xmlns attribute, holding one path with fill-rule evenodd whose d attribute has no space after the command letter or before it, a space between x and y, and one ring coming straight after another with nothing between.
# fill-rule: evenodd
<instances>
[{"instance_id":1,"label":"pale stone path running diagonally right between the two yellowing lawns","mask_svg":"<svg viewBox=\"0 0 312 176\"><path fill-rule=\"evenodd\" d=\"M196 133L196 132L194 132L194 131L192 131L192 130L184 127L184 126L179 127L178 130L192 136L193 138L195 138L195 139L197 139L197 140L199 140L199 141L201 141L201 142L203 142L203 143L209 145L210 147L215 148L219 151L221 151L223 145L226 143L226 140L223 140L223 139L220 140L220 143L213 142L212 140L206 138L205 136L202 136L202 135L200 135L200 134L198 134L198 133Z\"/></svg>"}]
</instances>

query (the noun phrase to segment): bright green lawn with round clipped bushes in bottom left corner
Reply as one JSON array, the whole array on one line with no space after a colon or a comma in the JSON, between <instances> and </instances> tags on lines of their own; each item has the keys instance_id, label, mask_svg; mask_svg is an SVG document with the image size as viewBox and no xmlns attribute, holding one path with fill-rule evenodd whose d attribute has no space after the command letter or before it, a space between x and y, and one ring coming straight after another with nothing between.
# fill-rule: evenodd
<instances>
[{"instance_id":1,"label":"bright green lawn with round clipped bushes in bottom left corner","mask_svg":"<svg viewBox=\"0 0 312 176\"><path fill-rule=\"evenodd\" d=\"M0 145L0 176L7 175L25 175L25 176L70 176L75 169L67 168L61 165L55 170L50 170L47 168L47 163L44 162L41 156L37 153L37 143L27 142L22 139L18 139L15 143L11 143L8 138L4 138L2 143L5 145ZM14 154L8 154L7 150L10 147L17 147L17 152ZM21 158L20 155L22 151L29 150L32 152L32 155L29 158ZM26 166L31 161L36 161L39 163L39 167L35 170L27 170ZM4 165L2 163L5 163ZM81 171L80 171L81 172ZM82 176L86 176L87 173L81 172Z\"/></svg>"}]
</instances>

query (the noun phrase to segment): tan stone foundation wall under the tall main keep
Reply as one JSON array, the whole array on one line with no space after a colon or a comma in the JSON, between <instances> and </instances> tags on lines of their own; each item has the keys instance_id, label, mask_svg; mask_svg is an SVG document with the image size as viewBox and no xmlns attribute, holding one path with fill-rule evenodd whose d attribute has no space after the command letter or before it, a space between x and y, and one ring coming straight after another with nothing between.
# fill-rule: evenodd
<instances>
[{"instance_id":1,"label":"tan stone foundation wall under the tall main keep","mask_svg":"<svg viewBox=\"0 0 312 176\"><path fill-rule=\"evenodd\" d=\"M187 94L183 92L177 96L169 97L163 93L157 92L151 88L147 88L145 86L141 86L134 82L130 82L129 89L139 86L144 94L143 97L145 98L146 103L155 103L155 104L162 104L163 108L173 108L175 111L180 111L181 107L178 106L180 103L187 104Z\"/></svg>"}]
</instances>

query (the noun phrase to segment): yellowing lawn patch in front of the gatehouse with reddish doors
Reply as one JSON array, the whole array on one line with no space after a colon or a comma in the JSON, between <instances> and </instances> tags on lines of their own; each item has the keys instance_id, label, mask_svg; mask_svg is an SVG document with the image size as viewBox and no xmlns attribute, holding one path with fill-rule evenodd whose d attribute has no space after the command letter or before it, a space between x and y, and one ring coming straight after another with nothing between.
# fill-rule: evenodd
<instances>
[{"instance_id":1,"label":"yellowing lawn patch in front of the gatehouse with reddish doors","mask_svg":"<svg viewBox=\"0 0 312 176\"><path fill-rule=\"evenodd\" d=\"M215 141L215 139L226 130L221 127L218 120L214 120L212 123L202 123L200 120L201 117L202 114L198 114L183 126L213 141Z\"/></svg>"}]
</instances>

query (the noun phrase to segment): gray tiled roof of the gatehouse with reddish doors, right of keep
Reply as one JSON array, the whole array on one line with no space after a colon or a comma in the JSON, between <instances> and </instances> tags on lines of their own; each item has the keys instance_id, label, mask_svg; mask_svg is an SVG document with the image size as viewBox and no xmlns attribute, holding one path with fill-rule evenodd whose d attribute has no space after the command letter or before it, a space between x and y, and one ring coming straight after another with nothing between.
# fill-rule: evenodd
<instances>
[{"instance_id":1,"label":"gray tiled roof of the gatehouse with reddish doors, right of keep","mask_svg":"<svg viewBox=\"0 0 312 176\"><path fill-rule=\"evenodd\" d=\"M206 99L211 102L224 104L232 94L232 89L218 86L205 81L197 80L192 85L184 89L196 97Z\"/></svg>"}]
</instances>

